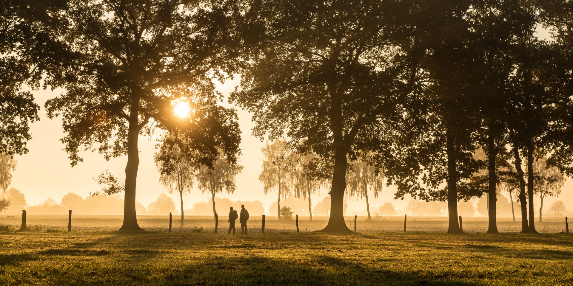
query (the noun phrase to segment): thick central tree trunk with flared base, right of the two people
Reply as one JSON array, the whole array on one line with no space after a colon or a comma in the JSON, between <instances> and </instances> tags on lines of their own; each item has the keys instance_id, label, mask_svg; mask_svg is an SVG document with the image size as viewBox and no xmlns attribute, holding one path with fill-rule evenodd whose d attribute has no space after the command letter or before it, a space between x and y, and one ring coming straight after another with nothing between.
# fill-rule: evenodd
<instances>
[{"instance_id":1,"label":"thick central tree trunk with flared base, right of the two people","mask_svg":"<svg viewBox=\"0 0 573 286\"><path fill-rule=\"evenodd\" d=\"M325 232L351 233L344 221L344 190L346 190L346 152L336 151L332 186L330 189L330 218Z\"/></svg>"}]
</instances>

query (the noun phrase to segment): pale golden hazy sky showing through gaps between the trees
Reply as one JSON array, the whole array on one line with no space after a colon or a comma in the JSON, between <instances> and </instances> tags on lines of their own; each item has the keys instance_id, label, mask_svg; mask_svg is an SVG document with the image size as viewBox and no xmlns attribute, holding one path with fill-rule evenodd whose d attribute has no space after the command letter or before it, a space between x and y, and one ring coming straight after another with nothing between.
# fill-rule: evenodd
<instances>
[{"instance_id":1,"label":"pale golden hazy sky showing through gaps between the trees","mask_svg":"<svg viewBox=\"0 0 573 286\"><path fill-rule=\"evenodd\" d=\"M233 81L227 81L225 85L219 85L218 89L223 94L228 94L234 89L234 86L236 86L238 82L238 78ZM62 150L64 145L60 142L60 138L64 136L61 119L56 118L49 120L43 108L44 102L48 100L48 98L55 97L61 92L62 90L55 90L54 92L50 90L39 90L33 92L37 104L42 106L40 110L40 121L30 126L33 139L28 142L29 153L15 157L16 160L18 160L17 169L14 172L14 177L10 185L25 194L28 205L39 204L44 202L48 197L60 202L61 197L68 192L88 196L89 192L100 189L100 186L93 181L93 177L105 169L108 169L115 176L119 176L122 179L125 177L124 168L127 162L127 157L125 156L105 161L103 156L99 153L82 152L81 156L84 158L84 162L80 162L73 168L70 167L68 154ZM224 104L229 106L226 102ZM268 213L269 206L272 202L277 200L277 196L276 193L269 193L265 196L262 191L262 185L258 181L262 164L261 148L264 146L264 142L252 136L251 129L254 124L251 121L250 114L239 109L238 116L242 130L242 156L240 158L240 164L245 166L245 168L237 177L236 192L232 195L220 194L219 196L228 197L231 200L259 200L264 205L265 212ZM145 206L154 201L159 196L159 193L167 192L163 186L159 184L159 174L152 158L155 152L155 144L156 136L151 138L140 137L140 164L136 200ZM563 193L559 198L565 202L568 208L573 208L572 187L573 181L568 178L563 187ZM377 200L370 194L371 207L376 208L384 204L384 202L391 201L397 209L405 208L407 200L393 200L394 190L394 187L385 188ZM322 197L328 195L327 190L323 190L320 193L320 197L312 197L314 203L319 202ZM178 206L178 194L174 193L171 194L171 196L175 201L175 205ZM195 189L187 194L183 200L185 208L191 208L194 202L209 201L210 194L201 194L199 190ZM537 202L538 200L539 199L536 200L537 204L539 204L539 202ZM554 201L554 198L546 198L544 203L545 208L548 209ZM347 213L366 208L366 203L363 201L350 199L347 202Z\"/></svg>"}]
</instances>

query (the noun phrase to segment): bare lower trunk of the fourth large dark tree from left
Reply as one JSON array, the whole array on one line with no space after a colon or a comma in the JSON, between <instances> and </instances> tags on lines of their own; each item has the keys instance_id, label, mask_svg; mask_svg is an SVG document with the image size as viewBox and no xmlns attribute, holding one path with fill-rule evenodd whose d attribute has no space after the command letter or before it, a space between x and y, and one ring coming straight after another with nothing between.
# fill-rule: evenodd
<instances>
[{"instance_id":1,"label":"bare lower trunk of the fourth large dark tree from left","mask_svg":"<svg viewBox=\"0 0 573 286\"><path fill-rule=\"evenodd\" d=\"M497 231L497 216L496 216L496 146L493 137L493 130L490 130L488 137L488 231L487 233L499 233Z\"/></svg>"}]
</instances>

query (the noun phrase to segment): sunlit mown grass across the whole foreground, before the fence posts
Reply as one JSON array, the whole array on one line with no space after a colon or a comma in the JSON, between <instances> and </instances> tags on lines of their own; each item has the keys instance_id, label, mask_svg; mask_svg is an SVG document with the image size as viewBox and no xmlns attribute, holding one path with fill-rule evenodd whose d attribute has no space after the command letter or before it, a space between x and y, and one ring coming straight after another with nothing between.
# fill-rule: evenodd
<instances>
[{"instance_id":1,"label":"sunlit mown grass across the whole foreground, before the fence posts","mask_svg":"<svg viewBox=\"0 0 573 286\"><path fill-rule=\"evenodd\" d=\"M0 285L571 285L573 236L4 232Z\"/></svg>"}]
</instances>

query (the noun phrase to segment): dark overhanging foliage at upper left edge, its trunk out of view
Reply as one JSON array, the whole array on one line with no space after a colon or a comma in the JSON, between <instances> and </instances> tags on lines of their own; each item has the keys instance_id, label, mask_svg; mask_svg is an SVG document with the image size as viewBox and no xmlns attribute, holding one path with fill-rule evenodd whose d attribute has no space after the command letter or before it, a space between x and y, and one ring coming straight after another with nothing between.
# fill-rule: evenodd
<instances>
[{"instance_id":1,"label":"dark overhanging foliage at upper left edge, its trunk out of view","mask_svg":"<svg viewBox=\"0 0 573 286\"><path fill-rule=\"evenodd\" d=\"M64 1L7 0L0 7L0 154L28 153L26 141L32 138L29 124L39 120L38 106L32 93L44 84L57 81L48 67L54 62L46 55L65 54L41 25L41 19ZM52 21L50 25L57 25Z\"/></svg>"}]
</instances>

